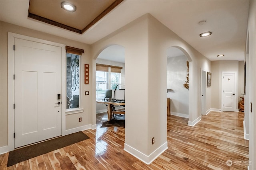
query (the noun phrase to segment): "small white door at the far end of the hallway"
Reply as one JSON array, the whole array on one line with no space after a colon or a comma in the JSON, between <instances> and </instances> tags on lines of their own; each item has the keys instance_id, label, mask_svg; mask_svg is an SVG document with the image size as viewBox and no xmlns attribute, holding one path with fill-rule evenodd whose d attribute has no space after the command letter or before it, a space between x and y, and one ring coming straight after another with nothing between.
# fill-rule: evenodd
<instances>
[{"instance_id":1,"label":"small white door at the far end of the hallway","mask_svg":"<svg viewBox=\"0 0 256 170\"><path fill-rule=\"evenodd\" d=\"M236 111L236 72L222 72L222 111Z\"/></svg>"}]
</instances>

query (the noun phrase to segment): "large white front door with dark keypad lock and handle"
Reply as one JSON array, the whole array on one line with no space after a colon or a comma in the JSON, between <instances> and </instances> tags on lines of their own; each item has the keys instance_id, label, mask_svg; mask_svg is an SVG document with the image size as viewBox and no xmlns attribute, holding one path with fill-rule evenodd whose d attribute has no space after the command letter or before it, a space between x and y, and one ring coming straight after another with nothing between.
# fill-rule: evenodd
<instances>
[{"instance_id":1,"label":"large white front door with dark keypad lock and handle","mask_svg":"<svg viewBox=\"0 0 256 170\"><path fill-rule=\"evenodd\" d=\"M61 135L61 47L18 38L14 45L17 148Z\"/></svg>"}]
</instances>

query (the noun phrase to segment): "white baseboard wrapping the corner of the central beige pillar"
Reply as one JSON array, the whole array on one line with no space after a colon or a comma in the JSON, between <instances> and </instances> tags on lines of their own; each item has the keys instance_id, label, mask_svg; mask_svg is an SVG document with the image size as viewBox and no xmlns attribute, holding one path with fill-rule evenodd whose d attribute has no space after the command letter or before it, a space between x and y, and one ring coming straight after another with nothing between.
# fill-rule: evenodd
<instances>
[{"instance_id":1,"label":"white baseboard wrapping the corner of the central beige pillar","mask_svg":"<svg viewBox=\"0 0 256 170\"><path fill-rule=\"evenodd\" d=\"M166 149L168 149L167 141L163 145L161 145L158 149L156 149L154 152L152 152L150 155L146 155L140 152L139 150L134 149L133 147L124 143L124 150L126 152L130 153L131 155L133 155L134 157L138 158L139 160L141 160L142 162L148 165L151 164Z\"/></svg>"}]
</instances>

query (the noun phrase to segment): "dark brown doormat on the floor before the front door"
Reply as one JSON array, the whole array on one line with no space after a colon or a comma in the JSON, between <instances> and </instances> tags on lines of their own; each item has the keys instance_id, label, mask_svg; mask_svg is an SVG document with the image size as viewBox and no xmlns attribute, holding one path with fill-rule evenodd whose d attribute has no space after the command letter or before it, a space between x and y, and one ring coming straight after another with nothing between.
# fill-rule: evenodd
<instances>
[{"instance_id":1,"label":"dark brown doormat on the floor before the front door","mask_svg":"<svg viewBox=\"0 0 256 170\"><path fill-rule=\"evenodd\" d=\"M9 152L8 166L89 139L82 131Z\"/></svg>"}]
</instances>

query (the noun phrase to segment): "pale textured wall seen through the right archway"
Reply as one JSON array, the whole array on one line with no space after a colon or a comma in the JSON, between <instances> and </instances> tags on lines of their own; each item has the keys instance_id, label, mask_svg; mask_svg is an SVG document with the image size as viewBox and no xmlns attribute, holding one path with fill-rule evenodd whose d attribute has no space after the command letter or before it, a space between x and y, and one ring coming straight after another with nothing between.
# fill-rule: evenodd
<instances>
[{"instance_id":1,"label":"pale textured wall seen through the right archway","mask_svg":"<svg viewBox=\"0 0 256 170\"><path fill-rule=\"evenodd\" d=\"M167 93L171 99L171 114L188 117L187 58L185 55L167 58ZM187 115L187 116L184 116Z\"/></svg>"}]
</instances>

